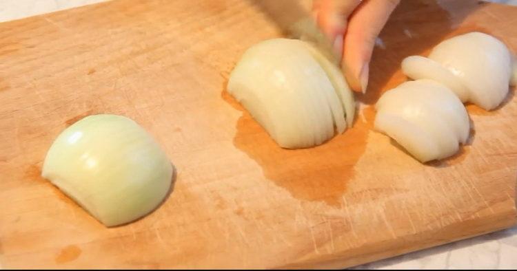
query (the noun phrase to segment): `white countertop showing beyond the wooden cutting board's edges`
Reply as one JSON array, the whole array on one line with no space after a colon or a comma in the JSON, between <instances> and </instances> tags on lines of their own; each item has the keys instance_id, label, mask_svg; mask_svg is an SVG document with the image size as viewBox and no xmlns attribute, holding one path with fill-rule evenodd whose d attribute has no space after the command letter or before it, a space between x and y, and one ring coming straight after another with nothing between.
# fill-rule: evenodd
<instances>
[{"instance_id":1,"label":"white countertop showing beyond the wooden cutting board's edges","mask_svg":"<svg viewBox=\"0 0 517 271\"><path fill-rule=\"evenodd\" d=\"M0 22L85 6L105 0L0 0ZM494 0L517 6L517 0ZM1 265L0 265L1 266ZM358 269L517 269L517 226L368 263Z\"/></svg>"}]
</instances>

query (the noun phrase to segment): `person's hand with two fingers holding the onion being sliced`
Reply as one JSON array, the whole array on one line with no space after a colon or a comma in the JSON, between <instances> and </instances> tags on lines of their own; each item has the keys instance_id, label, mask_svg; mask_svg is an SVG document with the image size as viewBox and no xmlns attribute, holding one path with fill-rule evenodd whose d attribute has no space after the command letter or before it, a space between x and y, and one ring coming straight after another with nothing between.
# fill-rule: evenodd
<instances>
[{"instance_id":1,"label":"person's hand with two fingers holding the onion being sliced","mask_svg":"<svg viewBox=\"0 0 517 271\"><path fill-rule=\"evenodd\" d=\"M343 72L355 91L368 85L376 38L400 0L314 0L316 21L334 42Z\"/></svg>"}]
</instances>

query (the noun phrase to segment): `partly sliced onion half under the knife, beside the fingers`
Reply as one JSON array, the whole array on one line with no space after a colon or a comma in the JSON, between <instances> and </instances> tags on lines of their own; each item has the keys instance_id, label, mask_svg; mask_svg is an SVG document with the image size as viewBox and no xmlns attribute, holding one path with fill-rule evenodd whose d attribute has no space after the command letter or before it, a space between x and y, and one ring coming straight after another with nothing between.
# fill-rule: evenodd
<instances>
[{"instance_id":1,"label":"partly sliced onion half under the knife, beside the fingers","mask_svg":"<svg viewBox=\"0 0 517 271\"><path fill-rule=\"evenodd\" d=\"M248 49L227 90L281 147L322 144L354 120L341 71L309 43L271 39Z\"/></svg>"}]
</instances>

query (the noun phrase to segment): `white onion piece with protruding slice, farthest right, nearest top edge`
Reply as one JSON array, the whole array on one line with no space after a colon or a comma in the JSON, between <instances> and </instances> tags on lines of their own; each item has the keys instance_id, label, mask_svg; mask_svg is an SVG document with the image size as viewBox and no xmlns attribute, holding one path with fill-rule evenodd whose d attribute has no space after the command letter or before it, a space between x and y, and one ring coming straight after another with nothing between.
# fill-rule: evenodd
<instances>
[{"instance_id":1,"label":"white onion piece with protruding slice, farthest right, nearest top edge","mask_svg":"<svg viewBox=\"0 0 517 271\"><path fill-rule=\"evenodd\" d=\"M514 63L503 42L471 32L436 45L428 58L405 58L402 69L410 78L436 80L463 102L491 110L508 94Z\"/></svg>"}]
</instances>

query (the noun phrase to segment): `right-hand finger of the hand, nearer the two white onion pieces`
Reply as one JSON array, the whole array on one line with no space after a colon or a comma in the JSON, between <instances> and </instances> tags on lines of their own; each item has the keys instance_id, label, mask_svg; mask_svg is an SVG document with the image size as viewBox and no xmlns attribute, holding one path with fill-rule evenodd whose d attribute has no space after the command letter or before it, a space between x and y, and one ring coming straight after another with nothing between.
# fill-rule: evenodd
<instances>
[{"instance_id":1,"label":"right-hand finger of the hand, nearer the two white onion pieces","mask_svg":"<svg viewBox=\"0 0 517 271\"><path fill-rule=\"evenodd\" d=\"M343 69L355 91L366 91L369 61L376 38L400 0L365 0L354 11L347 25Z\"/></svg>"}]
</instances>

